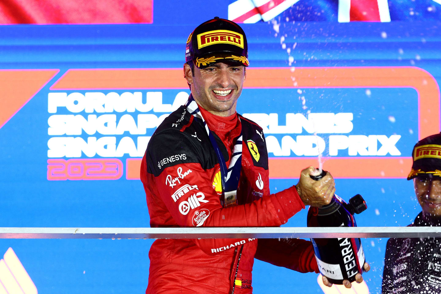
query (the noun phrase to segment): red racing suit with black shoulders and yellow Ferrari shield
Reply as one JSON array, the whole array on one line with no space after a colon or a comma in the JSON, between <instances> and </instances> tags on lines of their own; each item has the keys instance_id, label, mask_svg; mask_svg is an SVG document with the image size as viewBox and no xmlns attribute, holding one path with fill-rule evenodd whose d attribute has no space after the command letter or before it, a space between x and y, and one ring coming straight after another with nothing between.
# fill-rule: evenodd
<instances>
[{"instance_id":1,"label":"red racing suit with black shoulders and yellow Ferrari shield","mask_svg":"<svg viewBox=\"0 0 441 294\"><path fill-rule=\"evenodd\" d=\"M221 205L215 151L202 120L181 106L154 132L142 159L151 227L276 227L305 208L295 187L269 193L262 128L237 114L222 120L201 112L227 166L242 130L237 205ZM299 272L318 272L312 244L306 240L158 239L149 251L146 294L250 294L254 257Z\"/></svg>"}]
</instances>

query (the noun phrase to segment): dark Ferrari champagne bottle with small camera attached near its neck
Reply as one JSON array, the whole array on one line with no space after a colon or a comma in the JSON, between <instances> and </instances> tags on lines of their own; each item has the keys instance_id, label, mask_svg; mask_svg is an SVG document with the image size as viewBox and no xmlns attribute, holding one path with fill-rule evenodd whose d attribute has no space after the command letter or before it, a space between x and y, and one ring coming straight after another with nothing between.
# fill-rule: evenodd
<instances>
[{"instance_id":1,"label":"dark Ferrari champagne bottle with small camera attached near its neck","mask_svg":"<svg viewBox=\"0 0 441 294\"><path fill-rule=\"evenodd\" d=\"M318 180L325 175L311 175ZM356 227L354 213L363 212L366 201L359 194L349 199L347 204L337 195L322 207L310 206L307 216L308 227ZM360 238L311 238L318 268L322 275L334 284L343 284L343 280L355 281L357 273L363 273L365 257Z\"/></svg>"}]
</instances>

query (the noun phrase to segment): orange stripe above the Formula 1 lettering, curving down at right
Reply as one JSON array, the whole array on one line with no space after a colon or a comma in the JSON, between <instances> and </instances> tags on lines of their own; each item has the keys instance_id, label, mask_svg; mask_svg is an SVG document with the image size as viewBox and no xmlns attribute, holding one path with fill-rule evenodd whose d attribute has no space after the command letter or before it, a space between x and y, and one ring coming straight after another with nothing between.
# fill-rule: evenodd
<instances>
[{"instance_id":1,"label":"orange stripe above the Formula 1 lettering, curving down at right","mask_svg":"<svg viewBox=\"0 0 441 294\"><path fill-rule=\"evenodd\" d=\"M244 87L413 88L419 97L419 138L440 131L438 84L418 67L296 67L294 72L289 67L250 68ZM187 89L187 82L182 69L71 69L51 89Z\"/></svg>"}]
</instances>

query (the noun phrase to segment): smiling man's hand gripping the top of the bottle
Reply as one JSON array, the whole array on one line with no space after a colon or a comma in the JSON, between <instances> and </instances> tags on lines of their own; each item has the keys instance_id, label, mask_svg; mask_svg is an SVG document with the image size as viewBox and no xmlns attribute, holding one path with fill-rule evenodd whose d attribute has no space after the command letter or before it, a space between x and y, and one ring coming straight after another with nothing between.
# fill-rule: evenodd
<instances>
[{"instance_id":1,"label":"smiling man's hand gripping the top of the bottle","mask_svg":"<svg viewBox=\"0 0 441 294\"><path fill-rule=\"evenodd\" d=\"M300 173L300 179L295 188L305 205L320 207L329 204L335 192L335 182L332 175L326 172L326 175L316 181L310 178L311 172L315 167L305 168Z\"/></svg>"}]
</instances>

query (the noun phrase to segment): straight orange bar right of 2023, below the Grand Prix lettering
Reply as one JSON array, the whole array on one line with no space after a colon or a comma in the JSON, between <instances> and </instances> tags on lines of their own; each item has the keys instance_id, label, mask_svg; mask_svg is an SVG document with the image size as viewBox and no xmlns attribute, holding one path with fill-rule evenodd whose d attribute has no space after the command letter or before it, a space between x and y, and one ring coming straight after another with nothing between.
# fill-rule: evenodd
<instances>
[{"instance_id":1,"label":"straight orange bar right of 2023, below the Grand Prix lettering","mask_svg":"<svg viewBox=\"0 0 441 294\"><path fill-rule=\"evenodd\" d=\"M317 157L268 158L270 179L296 179L310 165L318 167ZM126 160L126 179L139 179L140 158ZM412 157L331 157L323 168L338 179L406 179Z\"/></svg>"}]
</instances>

